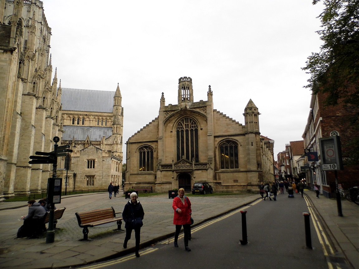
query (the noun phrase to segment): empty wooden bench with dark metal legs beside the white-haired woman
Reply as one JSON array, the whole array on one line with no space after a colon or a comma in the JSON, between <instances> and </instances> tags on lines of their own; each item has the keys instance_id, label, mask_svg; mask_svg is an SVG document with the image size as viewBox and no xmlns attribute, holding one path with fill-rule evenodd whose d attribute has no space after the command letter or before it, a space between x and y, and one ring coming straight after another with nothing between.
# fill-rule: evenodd
<instances>
[{"instance_id":1,"label":"empty wooden bench with dark metal legs beside the white-haired woman","mask_svg":"<svg viewBox=\"0 0 359 269\"><path fill-rule=\"evenodd\" d=\"M82 233L84 234L84 239L88 240L89 227L98 226L105 223L117 222L117 230L121 230L121 224L123 218L116 218L116 214L120 214L122 212L115 213L115 209L105 208L105 209L95 209L88 212L76 212L75 215L77 217L77 221L79 222L79 226L83 228Z\"/></svg>"}]
</instances>

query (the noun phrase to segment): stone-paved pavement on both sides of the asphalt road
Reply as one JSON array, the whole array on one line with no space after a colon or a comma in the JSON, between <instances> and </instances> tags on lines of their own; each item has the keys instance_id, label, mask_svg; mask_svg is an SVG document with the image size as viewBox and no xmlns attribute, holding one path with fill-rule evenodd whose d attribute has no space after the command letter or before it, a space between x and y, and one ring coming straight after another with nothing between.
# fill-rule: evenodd
<instances>
[{"instance_id":1,"label":"stone-paved pavement on both sides of the asphalt road","mask_svg":"<svg viewBox=\"0 0 359 269\"><path fill-rule=\"evenodd\" d=\"M322 196L316 199L315 194L309 190L305 193L325 221L323 226L333 239L337 255L345 254L353 268L359 269L359 207L354 203L342 201L343 217L338 217L334 199ZM278 194L278 198L281 195L286 194ZM190 197L194 225L242 207L258 198L259 194ZM82 228L78 226L75 217L75 212L111 206L116 212L122 212L127 201L123 195L109 200L107 193L62 198L61 204L56 204L56 207L66 207L66 210L57 223L59 230L55 231L55 242L49 244L46 244L46 238L16 238L17 230L22 225L20 216L27 214L26 202L0 203L0 268L60 268L116 258L134 252L134 233L127 249L123 249L125 231L114 231L116 223L109 227L89 228L88 236L92 241L80 241L83 238ZM139 194L139 201L145 210L144 226L141 228L141 248L171 238L174 234L172 199L168 199L167 194L150 197L141 197Z\"/></svg>"}]
</instances>

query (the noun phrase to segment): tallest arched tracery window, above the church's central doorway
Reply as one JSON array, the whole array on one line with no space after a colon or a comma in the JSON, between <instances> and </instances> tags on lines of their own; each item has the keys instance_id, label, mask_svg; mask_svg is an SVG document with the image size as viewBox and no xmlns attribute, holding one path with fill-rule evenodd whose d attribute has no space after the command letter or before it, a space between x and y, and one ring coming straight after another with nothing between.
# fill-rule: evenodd
<instances>
[{"instance_id":1,"label":"tallest arched tracery window, above the church's central doorway","mask_svg":"<svg viewBox=\"0 0 359 269\"><path fill-rule=\"evenodd\" d=\"M182 157L199 162L198 126L191 118L183 118L177 124L177 161Z\"/></svg>"}]
</instances>

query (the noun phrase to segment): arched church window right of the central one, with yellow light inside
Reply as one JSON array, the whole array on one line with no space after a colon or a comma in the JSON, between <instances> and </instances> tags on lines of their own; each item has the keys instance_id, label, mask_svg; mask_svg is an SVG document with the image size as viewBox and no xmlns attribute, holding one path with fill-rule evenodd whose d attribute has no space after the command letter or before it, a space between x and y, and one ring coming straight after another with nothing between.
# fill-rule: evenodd
<instances>
[{"instance_id":1,"label":"arched church window right of the central one, with yellow light inside","mask_svg":"<svg viewBox=\"0 0 359 269\"><path fill-rule=\"evenodd\" d=\"M238 169L238 143L226 140L219 145L220 169Z\"/></svg>"}]
</instances>

